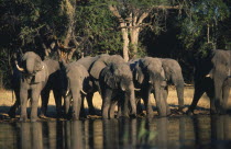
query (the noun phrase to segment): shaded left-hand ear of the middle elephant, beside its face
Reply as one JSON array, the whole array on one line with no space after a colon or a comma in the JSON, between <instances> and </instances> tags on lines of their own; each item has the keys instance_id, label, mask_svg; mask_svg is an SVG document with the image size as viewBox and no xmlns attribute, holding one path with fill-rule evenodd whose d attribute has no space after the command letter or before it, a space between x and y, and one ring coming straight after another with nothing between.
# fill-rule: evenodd
<instances>
[{"instance_id":1,"label":"shaded left-hand ear of the middle elephant, beside its face","mask_svg":"<svg viewBox=\"0 0 231 149\"><path fill-rule=\"evenodd\" d=\"M111 66L106 67L102 70L101 76L102 76L103 82L108 87L110 87L111 89L116 89L117 88L117 78L114 76L114 72L111 69Z\"/></svg>"}]
</instances>

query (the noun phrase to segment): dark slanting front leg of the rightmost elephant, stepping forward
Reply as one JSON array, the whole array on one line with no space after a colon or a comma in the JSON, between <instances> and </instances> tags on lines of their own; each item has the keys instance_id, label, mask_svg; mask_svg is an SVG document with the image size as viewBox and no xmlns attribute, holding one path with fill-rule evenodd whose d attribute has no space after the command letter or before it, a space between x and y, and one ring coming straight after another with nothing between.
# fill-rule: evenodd
<instances>
[{"instance_id":1,"label":"dark slanting front leg of the rightmost elephant, stepping forward","mask_svg":"<svg viewBox=\"0 0 231 149\"><path fill-rule=\"evenodd\" d=\"M199 101L199 99L202 96L202 94L205 93L205 89L202 88L195 88L195 92L194 92L194 99L191 101L191 104L190 106L188 107L186 114L194 114L194 110L196 108L197 106L197 103Z\"/></svg>"}]
</instances>

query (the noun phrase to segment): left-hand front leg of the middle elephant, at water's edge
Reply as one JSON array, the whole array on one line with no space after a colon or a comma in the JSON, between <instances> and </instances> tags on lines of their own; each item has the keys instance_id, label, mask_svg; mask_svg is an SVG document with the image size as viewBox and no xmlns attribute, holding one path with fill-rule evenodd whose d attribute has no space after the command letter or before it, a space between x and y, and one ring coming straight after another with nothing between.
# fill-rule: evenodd
<instances>
[{"instance_id":1,"label":"left-hand front leg of the middle elephant, at water's edge","mask_svg":"<svg viewBox=\"0 0 231 149\"><path fill-rule=\"evenodd\" d=\"M109 118L109 107L111 105L111 95L112 91L110 89L105 89L105 93L102 95L102 118Z\"/></svg>"}]
</instances>

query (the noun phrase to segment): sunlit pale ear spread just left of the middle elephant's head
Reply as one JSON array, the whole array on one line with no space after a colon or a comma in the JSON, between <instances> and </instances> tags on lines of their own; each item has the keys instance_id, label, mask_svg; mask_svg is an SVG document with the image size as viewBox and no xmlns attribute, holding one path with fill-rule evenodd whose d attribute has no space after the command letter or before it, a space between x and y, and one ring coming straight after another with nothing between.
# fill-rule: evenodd
<instances>
[{"instance_id":1,"label":"sunlit pale ear spread just left of the middle elephant's head","mask_svg":"<svg viewBox=\"0 0 231 149\"><path fill-rule=\"evenodd\" d=\"M95 61L94 65L90 68L90 74L95 78L95 79L99 79L100 72L101 70L106 67L106 64L102 61Z\"/></svg>"}]
</instances>

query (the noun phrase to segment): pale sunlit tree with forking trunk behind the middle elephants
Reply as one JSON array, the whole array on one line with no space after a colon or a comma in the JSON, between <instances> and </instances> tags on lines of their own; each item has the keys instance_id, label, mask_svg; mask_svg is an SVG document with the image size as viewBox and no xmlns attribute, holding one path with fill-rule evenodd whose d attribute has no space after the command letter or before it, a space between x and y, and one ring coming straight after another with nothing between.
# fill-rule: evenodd
<instances>
[{"instance_id":1,"label":"pale sunlit tree with forking trunk behind the middle elephants","mask_svg":"<svg viewBox=\"0 0 231 149\"><path fill-rule=\"evenodd\" d=\"M123 57L128 61L129 57L135 58L138 55L140 32L146 26L161 27L160 22L164 19L166 10L179 9L179 5L168 0L114 0L110 1L109 9L119 21ZM145 22L147 16L150 20Z\"/></svg>"}]
</instances>

